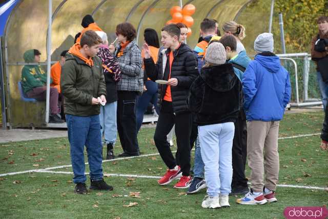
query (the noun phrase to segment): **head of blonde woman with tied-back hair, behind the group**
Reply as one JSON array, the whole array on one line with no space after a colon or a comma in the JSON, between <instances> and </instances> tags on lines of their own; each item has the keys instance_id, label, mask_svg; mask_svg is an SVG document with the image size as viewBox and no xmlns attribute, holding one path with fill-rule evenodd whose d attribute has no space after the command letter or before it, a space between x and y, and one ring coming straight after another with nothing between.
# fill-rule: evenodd
<instances>
[{"instance_id":1,"label":"head of blonde woman with tied-back hair, behind the group","mask_svg":"<svg viewBox=\"0 0 328 219\"><path fill-rule=\"evenodd\" d=\"M243 40L246 37L244 26L237 24L235 21L231 20L224 23L222 30L224 34L233 35L236 38L237 53L240 53L241 51L245 50L244 46L241 43L241 40Z\"/></svg>"}]
</instances>

